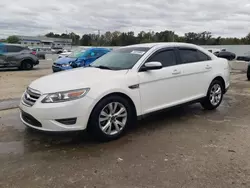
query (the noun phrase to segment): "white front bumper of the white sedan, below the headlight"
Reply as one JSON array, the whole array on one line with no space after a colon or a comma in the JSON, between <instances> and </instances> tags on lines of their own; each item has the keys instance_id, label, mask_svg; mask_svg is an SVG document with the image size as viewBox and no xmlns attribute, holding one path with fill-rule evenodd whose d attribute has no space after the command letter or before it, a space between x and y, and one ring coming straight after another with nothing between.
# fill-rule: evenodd
<instances>
[{"instance_id":1,"label":"white front bumper of the white sedan, below the headlight","mask_svg":"<svg viewBox=\"0 0 250 188\"><path fill-rule=\"evenodd\" d=\"M21 121L33 129L41 131L79 131L85 130L94 105L94 100L84 96L81 99L43 104L40 97L32 106L26 106L22 101L19 105ZM76 118L74 124L65 124L58 120Z\"/></svg>"}]
</instances>

